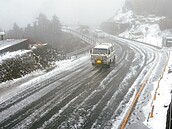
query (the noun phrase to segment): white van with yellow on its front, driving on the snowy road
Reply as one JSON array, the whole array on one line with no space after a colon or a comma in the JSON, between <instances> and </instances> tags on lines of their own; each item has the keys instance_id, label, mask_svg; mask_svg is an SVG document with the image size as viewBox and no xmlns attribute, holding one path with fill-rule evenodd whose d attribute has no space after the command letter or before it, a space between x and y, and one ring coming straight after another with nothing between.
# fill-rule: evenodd
<instances>
[{"instance_id":1,"label":"white van with yellow on its front, driving on the snowy road","mask_svg":"<svg viewBox=\"0 0 172 129\"><path fill-rule=\"evenodd\" d=\"M107 65L115 63L115 49L111 43L100 43L91 51L92 65Z\"/></svg>"}]
</instances>

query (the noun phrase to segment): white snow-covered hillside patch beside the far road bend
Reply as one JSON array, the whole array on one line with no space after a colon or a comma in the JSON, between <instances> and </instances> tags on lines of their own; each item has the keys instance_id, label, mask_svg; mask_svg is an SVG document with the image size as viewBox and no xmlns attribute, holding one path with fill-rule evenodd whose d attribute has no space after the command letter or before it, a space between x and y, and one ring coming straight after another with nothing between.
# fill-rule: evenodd
<instances>
[{"instance_id":1,"label":"white snow-covered hillside patch beside the far road bend","mask_svg":"<svg viewBox=\"0 0 172 129\"><path fill-rule=\"evenodd\" d=\"M121 37L162 47L162 39L166 36L172 35L170 30L160 30L158 23L164 18L165 17L158 17L155 15L136 15L131 10L126 12L119 10L111 22L115 22L119 25L124 23L128 23L130 25L130 27L126 28L123 33L119 34Z\"/></svg>"}]
</instances>

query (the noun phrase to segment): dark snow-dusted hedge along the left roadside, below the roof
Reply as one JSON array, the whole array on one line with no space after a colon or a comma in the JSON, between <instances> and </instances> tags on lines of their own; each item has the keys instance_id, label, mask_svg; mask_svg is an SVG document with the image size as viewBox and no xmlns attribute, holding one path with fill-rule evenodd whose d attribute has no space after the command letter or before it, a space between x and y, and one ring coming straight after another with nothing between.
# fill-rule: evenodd
<instances>
[{"instance_id":1,"label":"dark snow-dusted hedge along the left roadside, below the roof","mask_svg":"<svg viewBox=\"0 0 172 129\"><path fill-rule=\"evenodd\" d=\"M15 56L10 56L0 62L0 83L7 80L20 78L38 69L47 69L55 65L56 60L65 59L65 55L51 46L42 46L25 54L18 51ZM10 53L7 53L10 54ZM2 55L3 58L6 54Z\"/></svg>"}]
</instances>

